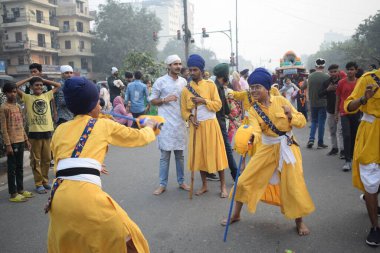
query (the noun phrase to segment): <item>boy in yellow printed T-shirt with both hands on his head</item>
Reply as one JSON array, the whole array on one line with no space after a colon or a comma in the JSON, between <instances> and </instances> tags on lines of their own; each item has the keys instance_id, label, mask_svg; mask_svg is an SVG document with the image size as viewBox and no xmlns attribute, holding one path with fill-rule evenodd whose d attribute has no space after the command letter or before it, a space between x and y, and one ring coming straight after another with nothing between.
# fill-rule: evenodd
<instances>
[{"instance_id":1,"label":"boy in yellow printed T-shirt with both hands on his head","mask_svg":"<svg viewBox=\"0 0 380 253\"><path fill-rule=\"evenodd\" d=\"M54 130L50 101L53 94L61 87L60 83L32 76L16 83L17 88L29 82L33 95L17 89L18 95L25 102L29 125L30 166L33 170L36 191L40 194L50 190L49 167L51 161L50 141ZM54 86L54 89L43 93L44 84Z\"/></svg>"}]
</instances>

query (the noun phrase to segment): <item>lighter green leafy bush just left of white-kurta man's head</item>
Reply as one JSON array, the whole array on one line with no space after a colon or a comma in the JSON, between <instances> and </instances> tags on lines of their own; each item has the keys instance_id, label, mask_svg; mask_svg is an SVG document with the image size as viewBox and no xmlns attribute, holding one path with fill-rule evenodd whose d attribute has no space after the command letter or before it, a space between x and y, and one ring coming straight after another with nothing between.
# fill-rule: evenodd
<instances>
[{"instance_id":1,"label":"lighter green leafy bush just left of white-kurta man's head","mask_svg":"<svg viewBox=\"0 0 380 253\"><path fill-rule=\"evenodd\" d=\"M145 78L155 79L166 71L165 64L158 63L149 53L130 52L124 60L124 69L134 72L141 71Z\"/></svg>"}]
</instances>

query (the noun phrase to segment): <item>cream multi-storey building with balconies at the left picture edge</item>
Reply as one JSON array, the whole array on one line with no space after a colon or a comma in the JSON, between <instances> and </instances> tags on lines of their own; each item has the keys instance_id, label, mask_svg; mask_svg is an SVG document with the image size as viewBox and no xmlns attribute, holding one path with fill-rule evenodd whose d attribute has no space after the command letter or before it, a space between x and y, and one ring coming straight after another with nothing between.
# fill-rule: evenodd
<instances>
[{"instance_id":1,"label":"cream multi-storey building with balconies at the left picture edge","mask_svg":"<svg viewBox=\"0 0 380 253\"><path fill-rule=\"evenodd\" d=\"M56 0L0 0L2 7L2 53L8 74L29 74L28 65L43 65L46 73L55 73L58 64L56 35L59 31L54 10Z\"/></svg>"}]
</instances>

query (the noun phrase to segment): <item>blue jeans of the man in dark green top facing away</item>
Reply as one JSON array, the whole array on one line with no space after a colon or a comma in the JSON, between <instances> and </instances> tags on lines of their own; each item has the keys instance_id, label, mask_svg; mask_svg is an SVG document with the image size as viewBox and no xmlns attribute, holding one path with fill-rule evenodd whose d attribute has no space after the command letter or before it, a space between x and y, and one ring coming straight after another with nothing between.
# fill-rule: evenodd
<instances>
[{"instance_id":1,"label":"blue jeans of the man in dark green top facing away","mask_svg":"<svg viewBox=\"0 0 380 253\"><path fill-rule=\"evenodd\" d=\"M326 123L326 107L311 107L311 129L309 141L314 142L315 132L318 128L318 145L323 143L323 136L325 134Z\"/></svg>"}]
</instances>

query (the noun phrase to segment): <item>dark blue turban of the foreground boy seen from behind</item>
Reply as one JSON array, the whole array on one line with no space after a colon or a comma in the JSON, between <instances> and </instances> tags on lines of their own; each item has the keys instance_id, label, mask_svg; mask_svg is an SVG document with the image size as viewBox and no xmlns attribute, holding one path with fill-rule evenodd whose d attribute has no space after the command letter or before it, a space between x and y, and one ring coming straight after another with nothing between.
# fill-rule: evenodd
<instances>
[{"instance_id":1,"label":"dark blue turban of the foreground boy seen from behind","mask_svg":"<svg viewBox=\"0 0 380 253\"><path fill-rule=\"evenodd\" d=\"M74 115L91 112L99 102L96 85L84 77L71 77L65 81L63 95L66 106Z\"/></svg>"}]
</instances>

